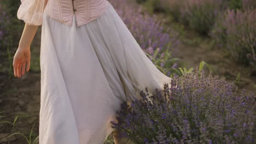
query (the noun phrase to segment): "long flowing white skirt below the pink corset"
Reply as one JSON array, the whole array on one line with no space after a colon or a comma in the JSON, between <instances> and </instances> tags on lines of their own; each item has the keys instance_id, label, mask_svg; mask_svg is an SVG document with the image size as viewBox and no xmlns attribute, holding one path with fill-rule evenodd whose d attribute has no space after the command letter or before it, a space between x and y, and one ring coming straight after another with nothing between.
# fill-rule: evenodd
<instances>
[{"instance_id":1,"label":"long flowing white skirt below the pink corset","mask_svg":"<svg viewBox=\"0 0 256 144\"><path fill-rule=\"evenodd\" d=\"M112 4L83 26L75 16L72 23L43 14L40 144L102 144L123 101L172 80L146 56Z\"/></svg>"}]
</instances>

